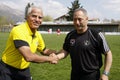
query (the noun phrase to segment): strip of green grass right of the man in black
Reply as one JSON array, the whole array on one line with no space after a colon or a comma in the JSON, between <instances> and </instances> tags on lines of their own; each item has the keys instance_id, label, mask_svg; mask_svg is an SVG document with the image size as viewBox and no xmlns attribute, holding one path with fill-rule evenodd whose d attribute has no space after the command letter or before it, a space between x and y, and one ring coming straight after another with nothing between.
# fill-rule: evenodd
<instances>
[{"instance_id":1,"label":"strip of green grass right of the man in black","mask_svg":"<svg viewBox=\"0 0 120 80\"><path fill-rule=\"evenodd\" d=\"M113 63L110 72L110 80L120 80L120 35L107 36L108 43L113 54Z\"/></svg>"}]
</instances>

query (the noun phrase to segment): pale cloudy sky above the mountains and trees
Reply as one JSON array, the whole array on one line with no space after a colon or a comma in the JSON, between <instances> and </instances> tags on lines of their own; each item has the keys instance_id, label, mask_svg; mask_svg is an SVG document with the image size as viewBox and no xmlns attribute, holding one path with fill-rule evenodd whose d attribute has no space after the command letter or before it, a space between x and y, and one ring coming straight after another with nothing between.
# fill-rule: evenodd
<instances>
[{"instance_id":1,"label":"pale cloudy sky above the mountains and trees","mask_svg":"<svg viewBox=\"0 0 120 80\"><path fill-rule=\"evenodd\" d=\"M24 11L27 3L34 3L43 9L44 15L58 18L68 12L74 0L0 0L11 8ZM120 0L79 0L81 6L88 11L89 18L120 20Z\"/></svg>"}]
</instances>

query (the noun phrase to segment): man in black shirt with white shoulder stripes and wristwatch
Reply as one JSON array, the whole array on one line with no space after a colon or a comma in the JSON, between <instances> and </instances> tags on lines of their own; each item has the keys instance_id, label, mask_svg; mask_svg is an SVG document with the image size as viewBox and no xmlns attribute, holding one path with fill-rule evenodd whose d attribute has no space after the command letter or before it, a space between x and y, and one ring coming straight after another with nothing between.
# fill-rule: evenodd
<instances>
[{"instance_id":1,"label":"man in black shirt with white shoulder stripes and wristwatch","mask_svg":"<svg viewBox=\"0 0 120 80\"><path fill-rule=\"evenodd\" d=\"M67 34L63 49L57 55L58 59L70 54L71 80L108 80L112 53L104 35L88 28L87 11L83 8L74 11L73 21L75 30ZM100 77L102 54L105 55L105 62L104 71Z\"/></svg>"}]
</instances>

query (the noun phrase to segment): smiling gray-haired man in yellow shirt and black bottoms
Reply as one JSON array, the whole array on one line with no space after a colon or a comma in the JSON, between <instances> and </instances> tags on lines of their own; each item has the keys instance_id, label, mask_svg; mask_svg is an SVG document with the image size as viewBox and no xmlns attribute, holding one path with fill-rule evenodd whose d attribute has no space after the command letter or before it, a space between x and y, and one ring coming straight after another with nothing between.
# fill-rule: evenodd
<instances>
[{"instance_id":1,"label":"smiling gray-haired man in yellow shirt and black bottoms","mask_svg":"<svg viewBox=\"0 0 120 80\"><path fill-rule=\"evenodd\" d=\"M37 31L42 18L41 8L33 4L26 6L26 21L13 27L2 53L0 80L31 80L30 62L42 63L57 60L57 57L45 56L56 51L46 48L41 34ZM38 55L36 51L45 55Z\"/></svg>"}]
</instances>

